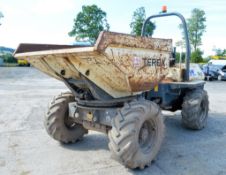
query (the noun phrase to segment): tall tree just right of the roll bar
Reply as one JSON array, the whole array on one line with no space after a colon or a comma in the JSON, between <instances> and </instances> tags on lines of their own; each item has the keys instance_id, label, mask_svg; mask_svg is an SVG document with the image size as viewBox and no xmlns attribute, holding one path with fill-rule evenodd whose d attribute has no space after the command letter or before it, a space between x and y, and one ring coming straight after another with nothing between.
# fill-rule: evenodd
<instances>
[{"instance_id":1,"label":"tall tree just right of the roll bar","mask_svg":"<svg viewBox=\"0 0 226 175\"><path fill-rule=\"evenodd\" d=\"M202 36L206 31L205 22L205 11L197 8L192 10L191 17L187 19L189 40L194 51L197 51L198 47L202 45ZM182 29L182 25L180 28Z\"/></svg>"}]
</instances>

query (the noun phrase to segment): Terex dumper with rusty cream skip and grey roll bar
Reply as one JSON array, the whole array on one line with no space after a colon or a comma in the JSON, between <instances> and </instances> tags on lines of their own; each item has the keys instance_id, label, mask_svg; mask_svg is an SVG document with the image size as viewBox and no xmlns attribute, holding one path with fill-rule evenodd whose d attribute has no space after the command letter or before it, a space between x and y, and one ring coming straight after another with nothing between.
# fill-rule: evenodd
<instances>
[{"instance_id":1,"label":"Terex dumper with rusty cream skip and grey roll bar","mask_svg":"<svg viewBox=\"0 0 226 175\"><path fill-rule=\"evenodd\" d=\"M167 16L182 21L185 63L175 62L171 39L146 36L151 19ZM47 133L63 143L81 140L88 130L105 133L112 157L126 167L143 169L156 158L165 130L161 110L181 110L186 128L206 126L205 82L199 66L190 67L187 26L179 13L148 17L142 36L103 31L94 46L21 44L14 55L70 90L50 102Z\"/></svg>"}]
</instances>

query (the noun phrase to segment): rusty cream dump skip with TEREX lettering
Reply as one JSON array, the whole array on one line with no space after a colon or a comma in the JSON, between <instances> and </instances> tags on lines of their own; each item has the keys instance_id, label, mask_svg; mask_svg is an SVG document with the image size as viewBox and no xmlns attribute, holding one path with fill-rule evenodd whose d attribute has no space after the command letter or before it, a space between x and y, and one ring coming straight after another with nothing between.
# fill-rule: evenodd
<instances>
[{"instance_id":1,"label":"rusty cream dump skip with TEREX lettering","mask_svg":"<svg viewBox=\"0 0 226 175\"><path fill-rule=\"evenodd\" d=\"M92 47L21 44L15 57L59 80L82 74L118 98L151 90L161 81L181 81L181 70L169 67L171 51L170 39L102 32Z\"/></svg>"}]
</instances>

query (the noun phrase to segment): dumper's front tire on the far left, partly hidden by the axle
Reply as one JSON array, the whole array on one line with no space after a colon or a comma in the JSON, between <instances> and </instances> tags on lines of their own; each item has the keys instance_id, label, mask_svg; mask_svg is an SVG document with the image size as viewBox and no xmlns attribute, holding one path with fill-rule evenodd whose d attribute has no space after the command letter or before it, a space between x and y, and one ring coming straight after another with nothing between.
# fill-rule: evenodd
<instances>
[{"instance_id":1,"label":"dumper's front tire on the far left, partly hidden by the axle","mask_svg":"<svg viewBox=\"0 0 226 175\"><path fill-rule=\"evenodd\" d=\"M68 103L73 101L74 96L70 92L54 97L44 119L47 133L63 143L74 143L87 133L82 125L69 121Z\"/></svg>"}]
</instances>

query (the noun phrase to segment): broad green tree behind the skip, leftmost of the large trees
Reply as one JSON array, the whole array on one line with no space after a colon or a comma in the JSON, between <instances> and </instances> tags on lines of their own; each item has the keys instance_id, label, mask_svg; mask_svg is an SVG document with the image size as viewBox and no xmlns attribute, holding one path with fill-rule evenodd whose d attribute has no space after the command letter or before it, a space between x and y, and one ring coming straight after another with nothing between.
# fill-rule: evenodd
<instances>
[{"instance_id":1,"label":"broad green tree behind the skip, leftmost of the large trees","mask_svg":"<svg viewBox=\"0 0 226 175\"><path fill-rule=\"evenodd\" d=\"M96 5L82 6L82 11L74 19L74 26L68 33L69 36L75 37L77 41L95 43L99 33L110 28L106 16L106 12Z\"/></svg>"}]
</instances>

